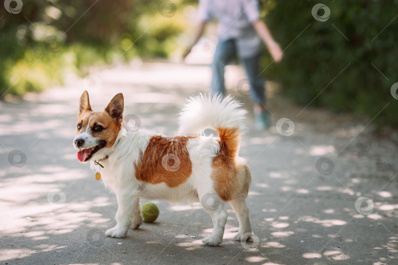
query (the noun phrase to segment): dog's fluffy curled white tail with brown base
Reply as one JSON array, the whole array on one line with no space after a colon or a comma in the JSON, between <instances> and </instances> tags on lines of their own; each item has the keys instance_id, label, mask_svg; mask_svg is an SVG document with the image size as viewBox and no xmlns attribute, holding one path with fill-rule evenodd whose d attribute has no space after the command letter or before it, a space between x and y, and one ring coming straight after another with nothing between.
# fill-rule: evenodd
<instances>
[{"instance_id":1,"label":"dog's fluffy curled white tail with brown base","mask_svg":"<svg viewBox=\"0 0 398 265\"><path fill-rule=\"evenodd\" d=\"M199 134L206 128L219 132L221 145L235 156L241 133L245 130L247 111L232 96L198 94L183 106L179 116L179 135Z\"/></svg>"}]
</instances>

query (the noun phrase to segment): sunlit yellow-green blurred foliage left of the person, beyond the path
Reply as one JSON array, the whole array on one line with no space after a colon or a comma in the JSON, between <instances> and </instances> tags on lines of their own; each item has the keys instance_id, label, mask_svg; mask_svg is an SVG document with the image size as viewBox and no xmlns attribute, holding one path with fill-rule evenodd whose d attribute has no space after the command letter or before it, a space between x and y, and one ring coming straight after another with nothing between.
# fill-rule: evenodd
<instances>
[{"instance_id":1,"label":"sunlit yellow-green blurred foliage left of the person, beyond the path","mask_svg":"<svg viewBox=\"0 0 398 265\"><path fill-rule=\"evenodd\" d=\"M167 57L185 30L183 1L168 2L31 0L16 14L1 6L0 97L62 84L87 65Z\"/></svg>"}]
</instances>

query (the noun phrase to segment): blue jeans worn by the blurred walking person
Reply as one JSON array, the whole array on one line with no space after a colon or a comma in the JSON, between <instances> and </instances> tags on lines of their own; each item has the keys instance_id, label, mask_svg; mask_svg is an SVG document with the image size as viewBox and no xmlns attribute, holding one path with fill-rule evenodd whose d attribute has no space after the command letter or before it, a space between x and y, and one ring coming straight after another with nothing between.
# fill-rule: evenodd
<instances>
[{"instance_id":1,"label":"blue jeans worn by the blurred walking person","mask_svg":"<svg viewBox=\"0 0 398 265\"><path fill-rule=\"evenodd\" d=\"M226 41L219 41L214 53L214 59L211 64L213 72L211 80L211 92L225 94L225 66L234 58L236 54L235 40L229 39ZM246 75L249 79L251 97L258 104L265 103L265 87L264 80L258 77L258 60L260 55L249 59L240 59L245 68Z\"/></svg>"}]
</instances>

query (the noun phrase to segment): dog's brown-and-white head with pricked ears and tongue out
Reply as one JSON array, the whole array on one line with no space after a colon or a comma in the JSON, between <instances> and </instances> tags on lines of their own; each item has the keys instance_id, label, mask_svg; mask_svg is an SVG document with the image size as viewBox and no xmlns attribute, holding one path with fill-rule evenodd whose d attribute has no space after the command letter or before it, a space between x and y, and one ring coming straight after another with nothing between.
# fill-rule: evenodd
<instances>
[{"instance_id":1,"label":"dog's brown-and-white head with pricked ears and tongue out","mask_svg":"<svg viewBox=\"0 0 398 265\"><path fill-rule=\"evenodd\" d=\"M123 120L123 94L114 96L105 111L93 112L84 91L80 97L73 146L78 149L77 157L82 163L107 157L121 129Z\"/></svg>"}]
</instances>

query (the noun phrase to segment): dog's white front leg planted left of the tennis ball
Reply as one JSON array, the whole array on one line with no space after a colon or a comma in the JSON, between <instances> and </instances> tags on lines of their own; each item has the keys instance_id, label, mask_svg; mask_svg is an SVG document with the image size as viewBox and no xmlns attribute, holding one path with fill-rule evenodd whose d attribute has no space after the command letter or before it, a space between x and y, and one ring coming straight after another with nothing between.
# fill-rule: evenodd
<instances>
[{"instance_id":1,"label":"dog's white front leg planted left of the tennis ball","mask_svg":"<svg viewBox=\"0 0 398 265\"><path fill-rule=\"evenodd\" d=\"M134 193L116 193L118 209L116 212L116 226L108 229L105 235L110 237L126 237L131 224L131 216L139 198Z\"/></svg>"}]
</instances>

